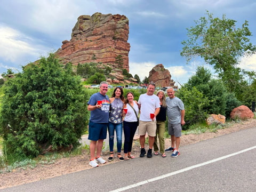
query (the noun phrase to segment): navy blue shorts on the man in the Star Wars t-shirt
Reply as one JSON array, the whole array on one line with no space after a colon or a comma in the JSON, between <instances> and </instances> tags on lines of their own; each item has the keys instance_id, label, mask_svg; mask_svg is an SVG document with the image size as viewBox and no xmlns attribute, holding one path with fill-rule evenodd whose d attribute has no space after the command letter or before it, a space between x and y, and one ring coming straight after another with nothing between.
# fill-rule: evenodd
<instances>
[{"instance_id":1,"label":"navy blue shorts on the man in the Star Wars t-shirt","mask_svg":"<svg viewBox=\"0 0 256 192\"><path fill-rule=\"evenodd\" d=\"M107 138L108 123L93 123L89 122L89 140L98 141L99 139Z\"/></svg>"}]
</instances>

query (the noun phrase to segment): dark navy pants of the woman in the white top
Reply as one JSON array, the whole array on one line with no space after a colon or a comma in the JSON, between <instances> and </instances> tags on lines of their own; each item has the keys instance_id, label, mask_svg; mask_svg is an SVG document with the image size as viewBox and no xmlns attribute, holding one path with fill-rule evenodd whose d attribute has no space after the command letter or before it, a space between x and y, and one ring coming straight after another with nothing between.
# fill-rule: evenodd
<instances>
[{"instance_id":1,"label":"dark navy pants of the woman in the white top","mask_svg":"<svg viewBox=\"0 0 256 192\"><path fill-rule=\"evenodd\" d=\"M126 122L124 121L123 130L124 130L124 153L132 151L132 142L134 134L137 130L139 122Z\"/></svg>"}]
</instances>

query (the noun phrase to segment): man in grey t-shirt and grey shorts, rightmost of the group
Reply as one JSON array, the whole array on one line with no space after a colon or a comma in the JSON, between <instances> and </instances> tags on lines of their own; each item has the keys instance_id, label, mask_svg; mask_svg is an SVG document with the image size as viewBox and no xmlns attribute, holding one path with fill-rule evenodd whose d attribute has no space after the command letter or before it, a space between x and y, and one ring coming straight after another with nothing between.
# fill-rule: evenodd
<instances>
[{"instance_id":1,"label":"man in grey t-shirt and grey shorts, rightmost of the group","mask_svg":"<svg viewBox=\"0 0 256 192\"><path fill-rule=\"evenodd\" d=\"M185 125L184 116L185 108L183 102L175 97L174 90L171 87L167 89L166 105L167 105L167 117L168 117L168 132L171 135L172 146L165 151L173 151L171 157L177 157L180 155L180 137L181 137L181 125ZM174 148L174 144L176 147Z\"/></svg>"}]
</instances>

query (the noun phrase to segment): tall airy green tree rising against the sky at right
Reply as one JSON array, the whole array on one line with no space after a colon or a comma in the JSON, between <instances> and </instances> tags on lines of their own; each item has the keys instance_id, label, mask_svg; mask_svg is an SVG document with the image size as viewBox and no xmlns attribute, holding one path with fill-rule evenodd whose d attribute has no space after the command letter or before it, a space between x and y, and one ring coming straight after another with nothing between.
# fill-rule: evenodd
<instances>
[{"instance_id":1,"label":"tall airy green tree rising against the sky at right","mask_svg":"<svg viewBox=\"0 0 256 192\"><path fill-rule=\"evenodd\" d=\"M232 91L234 81L231 78L239 58L252 55L256 51L255 45L250 43L248 21L241 28L236 27L236 21L213 18L213 14L206 12L208 18L201 17L195 21L196 26L188 28L188 40L183 41L181 55L189 62L193 57L200 56L213 66L222 79L225 79L229 91ZM238 79L239 80L239 79Z\"/></svg>"}]
</instances>

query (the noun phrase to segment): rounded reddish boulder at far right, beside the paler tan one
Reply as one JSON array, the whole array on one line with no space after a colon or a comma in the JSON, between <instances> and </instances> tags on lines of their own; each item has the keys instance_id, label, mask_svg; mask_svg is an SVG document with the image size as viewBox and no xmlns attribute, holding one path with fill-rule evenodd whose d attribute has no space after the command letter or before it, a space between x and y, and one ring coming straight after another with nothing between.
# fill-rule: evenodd
<instances>
[{"instance_id":1,"label":"rounded reddish boulder at far right, beside the paler tan one","mask_svg":"<svg viewBox=\"0 0 256 192\"><path fill-rule=\"evenodd\" d=\"M247 106L239 106L235 109L233 109L230 113L230 118L232 119L246 119L246 118L253 118L254 114Z\"/></svg>"}]
</instances>

